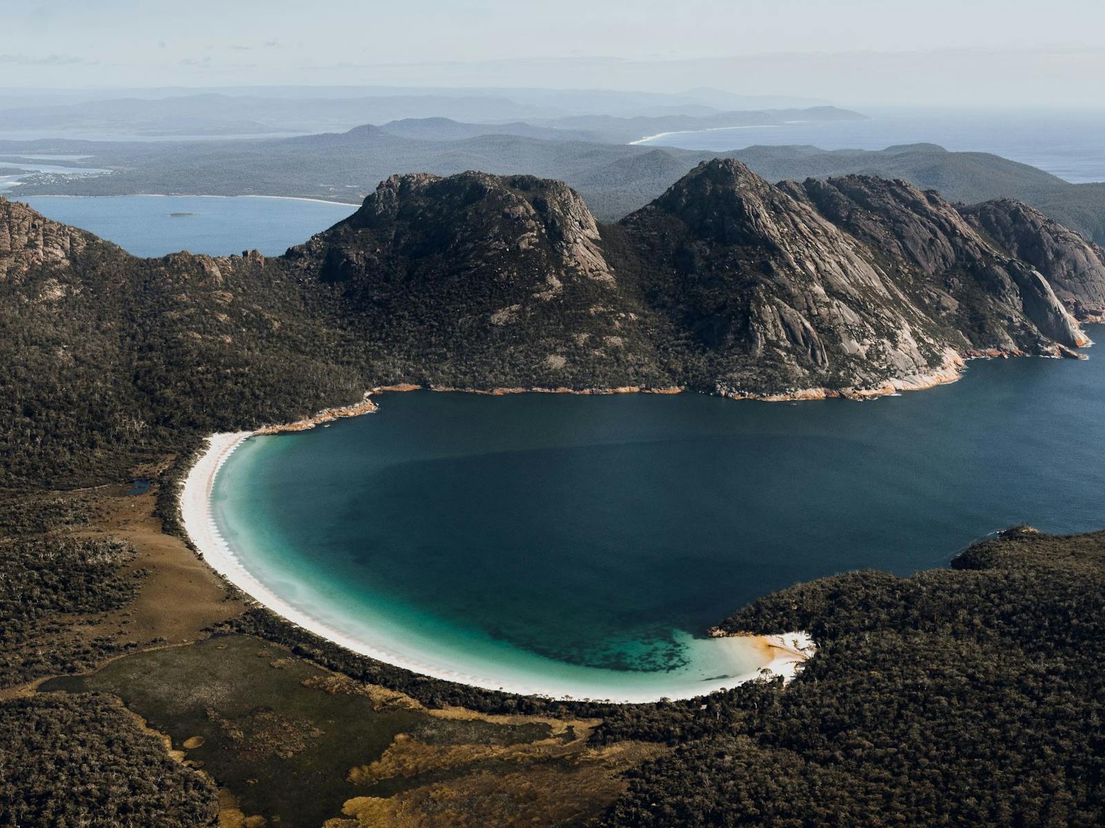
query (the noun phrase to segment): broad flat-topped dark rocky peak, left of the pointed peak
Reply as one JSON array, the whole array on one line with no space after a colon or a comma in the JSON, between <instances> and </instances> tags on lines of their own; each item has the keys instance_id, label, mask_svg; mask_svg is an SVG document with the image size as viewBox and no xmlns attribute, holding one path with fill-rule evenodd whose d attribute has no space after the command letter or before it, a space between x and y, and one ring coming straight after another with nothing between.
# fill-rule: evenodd
<instances>
[{"instance_id":1,"label":"broad flat-topped dark rocky peak, left of the pointed peak","mask_svg":"<svg viewBox=\"0 0 1105 828\"><path fill-rule=\"evenodd\" d=\"M438 370L453 352L473 367L508 354L498 384L671 384L594 216L559 181L392 176L285 262L330 285L340 316L361 317L369 351L398 357L404 380L488 384Z\"/></svg>"}]
</instances>

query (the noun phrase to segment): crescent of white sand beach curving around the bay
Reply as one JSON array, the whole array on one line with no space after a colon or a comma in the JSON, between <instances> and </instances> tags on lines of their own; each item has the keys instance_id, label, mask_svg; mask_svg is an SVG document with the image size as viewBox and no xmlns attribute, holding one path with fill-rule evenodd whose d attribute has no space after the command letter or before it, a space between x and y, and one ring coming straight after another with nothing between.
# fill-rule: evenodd
<instances>
[{"instance_id":1,"label":"crescent of white sand beach curving around the bay","mask_svg":"<svg viewBox=\"0 0 1105 828\"><path fill-rule=\"evenodd\" d=\"M242 562L234 554L234 551L227 543L225 539L223 539L214 521L211 505L211 495L214 488L215 476L219 470L222 468L223 464L227 463L234 450L254 434L255 432L235 432L211 435L208 438L209 445L207 450L200 455L199 459L192 466L185 480L185 485L181 488L180 517L185 530L207 564L219 575L286 620L362 656L368 656L379 661L401 667L424 676L431 676L445 681L456 681L487 690L501 690L511 693L541 696L546 698L583 698L580 696L566 696L548 692L547 688L541 688L539 686L505 682L490 676L472 676L455 670L443 669L439 666L422 664L404 654L375 646L368 641L334 629L326 623L312 617L308 613L292 606L267 586L262 584L242 564ZM807 658L812 656L817 649L815 645L806 633L736 637L754 639L754 643L758 646L759 651L762 654L762 662L748 672L725 679L725 687L736 687L737 684L753 681L755 679L778 676L781 676L785 680L790 680L797 675L801 664L806 661ZM636 703L659 701L662 698L696 698L718 689L720 688L717 686L713 686L708 689L703 688L698 692L690 692L685 689L673 689L670 692L653 692L648 696L628 696L627 698L621 699L608 699L603 698L601 693L598 693L590 698L593 700L613 701L618 703Z\"/></svg>"}]
</instances>

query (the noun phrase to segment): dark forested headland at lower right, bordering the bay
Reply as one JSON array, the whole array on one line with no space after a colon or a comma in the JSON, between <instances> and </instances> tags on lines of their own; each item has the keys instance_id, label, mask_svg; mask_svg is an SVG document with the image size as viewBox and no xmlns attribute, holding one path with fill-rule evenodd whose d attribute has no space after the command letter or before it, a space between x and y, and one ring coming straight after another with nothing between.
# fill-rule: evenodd
<instances>
[{"instance_id":1,"label":"dark forested headland at lower right, bordering the bay","mask_svg":"<svg viewBox=\"0 0 1105 828\"><path fill-rule=\"evenodd\" d=\"M607 739L680 747L604 824L1101 825L1103 618L1103 533L1014 529L950 571L769 595L723 628L809 629L817 658L785 691L608 719Z\"/></svg>"}]
</instances>

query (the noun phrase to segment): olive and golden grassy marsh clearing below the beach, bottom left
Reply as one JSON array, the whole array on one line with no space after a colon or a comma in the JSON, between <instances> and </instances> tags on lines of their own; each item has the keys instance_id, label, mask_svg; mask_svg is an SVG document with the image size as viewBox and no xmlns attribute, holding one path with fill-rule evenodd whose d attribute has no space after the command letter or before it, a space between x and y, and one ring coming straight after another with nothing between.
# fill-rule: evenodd
<instances>
[{"instance_id":1,"label":"olive and golden grassy marsh clearing below the beach, bottom left","mask_svg":"<svg viewBox=\"0 0 1105 828\"><path fill-rule=\"evenodd\" d=\"M222 786L228 825L422 825L427 808L450 825L586 822L624 789L623 769L661 750L589 747L594 720L430 710L241 635L125 656L42 690L123 699Z\"/></svg>"}]
</instances>

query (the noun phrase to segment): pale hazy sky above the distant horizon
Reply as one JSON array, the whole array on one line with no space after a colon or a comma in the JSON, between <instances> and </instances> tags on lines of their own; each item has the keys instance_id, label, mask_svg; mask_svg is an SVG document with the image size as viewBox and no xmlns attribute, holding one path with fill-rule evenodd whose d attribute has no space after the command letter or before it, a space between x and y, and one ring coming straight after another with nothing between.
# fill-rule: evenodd
<instances>
[{"instance_id":1,"label":"pale hazy sky above the distant horizon","mask_svg":"<svg viewBox=\"0 0 1105 828\"><path fill-rule=\"evenodd\" d=\"M713 85L1105 106L1103 0L6 0L0 25L14 87Z\"/></svg>"}]
</instances>

